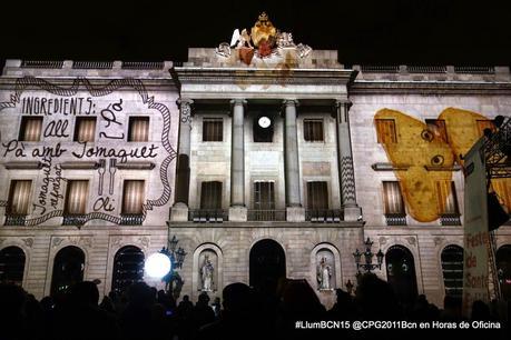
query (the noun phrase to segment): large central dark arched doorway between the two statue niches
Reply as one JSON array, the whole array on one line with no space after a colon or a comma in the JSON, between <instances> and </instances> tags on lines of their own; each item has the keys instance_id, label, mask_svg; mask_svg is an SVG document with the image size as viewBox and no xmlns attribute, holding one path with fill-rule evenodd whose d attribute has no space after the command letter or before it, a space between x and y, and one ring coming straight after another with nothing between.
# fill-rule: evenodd
<instances>
[{"instance_id":1,"label":"large central dark arched doorway between the two statue niches","mask_svg":"<svg viewBox=\"0 0 511 340\"><path fill-rule=\"evenodd\" d=\"M250 286L261 289L276 286L279 278L286 277L286 256L284 249L274 240L265 239L250 249Z\"/></svg>"}]
</instances>

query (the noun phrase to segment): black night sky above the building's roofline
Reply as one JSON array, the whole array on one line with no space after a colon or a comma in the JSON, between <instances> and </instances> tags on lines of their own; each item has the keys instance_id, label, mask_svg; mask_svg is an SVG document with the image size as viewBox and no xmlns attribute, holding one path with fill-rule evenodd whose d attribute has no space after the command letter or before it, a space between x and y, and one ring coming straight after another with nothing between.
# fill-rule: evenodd
<instances>
[{"instance_id":1,"label":"black night sky above the building's roofline","mask_svg":"<svg viewBox=\"0 0 511 340\"><path fill-rule=\"evenodd\" d=\"M8 2L8 3L6 3ZM511 11L485 0L40 0L0 6L0 60L186 60L261 11L341 62L509 64Z\"/></svg>"}]
</instances>

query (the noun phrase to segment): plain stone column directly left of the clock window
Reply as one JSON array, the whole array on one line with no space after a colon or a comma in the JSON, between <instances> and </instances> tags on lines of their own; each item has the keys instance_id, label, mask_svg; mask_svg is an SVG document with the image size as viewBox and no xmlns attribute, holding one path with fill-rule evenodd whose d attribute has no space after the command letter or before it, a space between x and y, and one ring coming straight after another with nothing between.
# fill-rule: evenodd
<instances>
[{"instance_id":1,"label":"plain stone column directly left of the clock window","mask_svg":"<svg viewBox=\"0 0 511 340\"><path fill-rule=\"evenodd\" d=\"M244 140L244 99L233 99L232 140L230 140L230 208L229 221L246 221L245 207L245 140Z\"/></svg>"}]
</instances>

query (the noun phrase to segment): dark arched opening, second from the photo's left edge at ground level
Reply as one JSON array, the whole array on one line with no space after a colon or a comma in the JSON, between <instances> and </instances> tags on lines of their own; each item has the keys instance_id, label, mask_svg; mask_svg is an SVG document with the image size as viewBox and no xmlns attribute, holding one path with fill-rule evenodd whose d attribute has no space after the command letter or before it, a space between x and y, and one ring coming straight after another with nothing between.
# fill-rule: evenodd
<instances>
[{"instance_id":1,"label":"dark arched opening, second from the photo's left edge at ground level","mask_svg":"<svg viewBox=\"0 0 511 340\"><path fill-rule=\"evenodd\" d=\"M53 260L51 294L65 291L72 284L83 281L85 253L73 246L59 250Z\"/></svg>"}]
</instances>

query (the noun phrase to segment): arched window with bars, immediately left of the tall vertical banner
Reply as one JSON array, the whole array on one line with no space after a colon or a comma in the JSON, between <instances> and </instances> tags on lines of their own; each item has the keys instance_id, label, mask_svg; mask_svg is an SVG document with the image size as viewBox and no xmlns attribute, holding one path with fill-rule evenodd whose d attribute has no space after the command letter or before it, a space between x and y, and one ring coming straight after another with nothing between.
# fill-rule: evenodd
<instances>
[{"instance_id":1,"label":"arched window with bars, immediately left of the tall vertical banner","mask_svg":"<svg viewBox=\"0 0 511 340\"><path fill-rule=\"evenodd\" d=\"M448 246L442 251L442 273L445 296L461 298L463 293L463 248Z\"/></svg>"}]
</instances>

